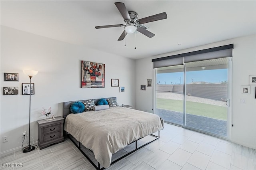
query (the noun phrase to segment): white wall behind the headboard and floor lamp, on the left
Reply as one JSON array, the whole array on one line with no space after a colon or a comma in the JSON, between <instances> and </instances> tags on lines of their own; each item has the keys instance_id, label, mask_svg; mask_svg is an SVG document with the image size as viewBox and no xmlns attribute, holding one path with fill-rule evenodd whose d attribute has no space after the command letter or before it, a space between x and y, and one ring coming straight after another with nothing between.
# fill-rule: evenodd
<instances>
[{"instance_id":1,"label":"white wall behind the headboard and floor lamp, on the left","mask_svg":"<svg viewBox=\"0 0 256 170\"><path fill-rule=\"evenodd\" d=\"M82 89L81 60L105 64L105 88ZM62 116L62 102L102 97L117 97L118 104L135 105L135 61L110 53L64 43L1 26L1 88L18 86L19 95L1 92L1 155L20 149L22 131L28 132L29 95L22 95L22 83L29 83L23 69L38 70L32 77L35 95L31 95L31 131L38 139L37 120L44 119L42 107ZM4 81L4 73L19 73L19 81ZM111 87L119 79L125 92ZM8 136L3 143L2 137ZM28 142L25 141L25 143Z\"/></svg>"}]
</instances>

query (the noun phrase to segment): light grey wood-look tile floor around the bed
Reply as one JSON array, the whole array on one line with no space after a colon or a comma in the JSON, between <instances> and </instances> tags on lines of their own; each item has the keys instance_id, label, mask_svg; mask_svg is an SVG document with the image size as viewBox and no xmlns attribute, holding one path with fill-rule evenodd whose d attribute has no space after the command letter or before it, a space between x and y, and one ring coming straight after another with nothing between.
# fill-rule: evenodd
<instances>
[{"instance_id":1,"label":"light grey wood-look tile floor around the bed","mask_svg":"<svg viewBox=\"0 0 256 170\"><path fill-rule=\"evenodd\" d=\"M29 153L18 151L2 157L0 162L1 170L94 170L70 139L42 150L36 149ZM23 167L4 167L8 163L11 166L12 163L22 163ZM256 170L256 150L165 123L160 139L108 169Z\"/></svg>"}]
</instances>

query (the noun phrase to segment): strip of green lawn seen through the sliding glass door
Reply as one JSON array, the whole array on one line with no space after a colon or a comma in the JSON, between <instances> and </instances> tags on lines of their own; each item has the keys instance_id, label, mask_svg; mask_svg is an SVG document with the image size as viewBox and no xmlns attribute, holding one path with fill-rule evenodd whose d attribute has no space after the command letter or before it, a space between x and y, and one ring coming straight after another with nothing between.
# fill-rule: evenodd
<instances>
[{"instance_id":1,"label":"strip of green lawn seen through the sliding glass door","mask_svg":"<svg viewBox=\"0 0 256 170\"><path fill-rule=\"evenodd\" d=\"M183 101L180 100L156 99L156 106L159 109L166 109L183 113ZM220 119L223 121L227 120L227 108L222 106L187 101L186 113Z\"/></svg>"}]
</instances>

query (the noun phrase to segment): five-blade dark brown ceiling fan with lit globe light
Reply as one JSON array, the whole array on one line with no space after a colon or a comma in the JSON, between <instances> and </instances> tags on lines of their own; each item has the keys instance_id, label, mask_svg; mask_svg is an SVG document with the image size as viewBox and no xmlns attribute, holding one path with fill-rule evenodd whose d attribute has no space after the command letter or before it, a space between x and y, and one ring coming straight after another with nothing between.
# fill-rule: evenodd
<instances>
[{"instance_id":1,"label":"five-blade dark brown ceiling fan with lit globe light","mask_svg":"<svg viewBox=\"0 0 256 170\"><path fill-rule=\"evenodd\" d=\"M155 36L155 34L146 30L148 27L144 26L143 24L148 22L163 20L167 18L167 14L165 12L162 12L160 14L138 19L138 14L134 11L127 11L124 3L115 2L115 5L119 10L119 12L121 13L122 17L124 18L124 22L126 23L126 25L116 24L116 25L107 25L107 26L96 26L95 28L99 29L99 28L111 28L111 27L124 27L124 32L118 38L118 41L124 40L127 33L132 34L136 30L144 34L145 36L152 38Z\"/></svg>"}]
</instances>

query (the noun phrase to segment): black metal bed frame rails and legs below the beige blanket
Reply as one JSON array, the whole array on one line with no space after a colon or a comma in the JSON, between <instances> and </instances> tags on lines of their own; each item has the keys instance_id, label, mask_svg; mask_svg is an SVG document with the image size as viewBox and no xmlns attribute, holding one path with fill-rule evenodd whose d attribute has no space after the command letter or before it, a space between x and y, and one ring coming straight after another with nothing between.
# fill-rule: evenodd
<instances>
[{"instance_id":1,"label":"black metal bed frame rails and legs below the beige blanket","mask_svg":"<svg viewBox=\"0 0 256 170\"><path fill-rule=\"evenodd\" d=\"M99 163L99 162L98 162L98 166L96 166L96 164L94 164L94 162L89 158L89 156L86 155L86 153L84 153L84 151L81 149L81 143L79 142L79 145L76 144L76 142L71 138L71 136L72 136L71 134L68 134L68 133L66 132L66 135L68 136L68 138L70 138L70 140L74 143L74 145L78 148L78 150L80 150L80 152L89 160L89 162L94 166L94 168L96 168L97 170L104 170L104 169L105 169L104 167L103 167L103 168L100 168L100 163ZM150 134L150 136L154 136L154 137L155 137L154 140L150 140L149 142L143 144L143 145L140 146L140 147L138 147L138 140L140 140L141 138L139 138L138 140L135 140L135 141L134 141L134 142L136 142L135 149L132 150L132 151L130 151L130 152L128 152L127 154L121 156L120 158L118 158L118 159L112 161L112 162L110 163L110 165L112 165L112 164L118 162L119 160L125 158L126 156L132 154L133 152L135 152L136 150L139 150L140 148L146 146L147 144L150 144L151 142L154 142L155 140L159 139L159 138L160 138L160 131L158 131L158 136L156 136L156 135L154 135L154 134ZM132 143L134 143L134 142L132 142ZM132 144L132 143L130 143L130 144ZM90 150L90 151L92 152L92 150ZM92 152L92 153L93 153L93 152Z\"/></svg>"}]
</instances>

